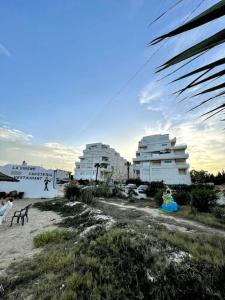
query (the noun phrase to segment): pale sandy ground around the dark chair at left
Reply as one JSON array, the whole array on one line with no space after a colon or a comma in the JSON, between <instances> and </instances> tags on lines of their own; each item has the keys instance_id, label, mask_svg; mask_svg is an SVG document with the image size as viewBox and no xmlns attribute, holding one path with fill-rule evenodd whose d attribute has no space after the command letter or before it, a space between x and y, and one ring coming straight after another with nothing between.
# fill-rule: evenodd
<instances>
[{"instance_id":1,"label":"pale sandy ground around the dark chair at left","mask_svg":"<svg viewBox=\"0 0 225 300\"><path fill-rule=\"evenodd\" d=\"M16 223L9 227L14 211L24 208L30 203L46 201L43 199L22 199L15 200L13 208L9 212L6 223L0 225L0 275L4 274L6 268L17 260L30 257L38 253L39 249L33 248L33 237L45 230L52 230L57 227L61 217L55 212L41 212L36 208L30 208L28 212L29 222L25 221L24 226Z\"/></svg>"}]
</instances>

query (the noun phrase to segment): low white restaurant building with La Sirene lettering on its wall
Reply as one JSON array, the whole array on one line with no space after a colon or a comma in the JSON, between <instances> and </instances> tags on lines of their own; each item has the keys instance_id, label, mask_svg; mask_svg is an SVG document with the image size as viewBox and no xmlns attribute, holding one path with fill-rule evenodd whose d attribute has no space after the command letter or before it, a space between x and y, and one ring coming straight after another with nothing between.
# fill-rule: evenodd
<instances>
[{"instance_id":1,"label":"low white restaurant building with La Sirene lettering on its wall","mask_svg":"<svg viewBox=\"0 0 225 300\"><path fill-rule=\"evenodd\" d=\"M17 179L16 182L1 181L0 192L24 192L25 198L52 198L62 196L62 187L57 184L69 177L68 172L62 170L44 169L28 165L25 161L21 164L7 164L0 166L0 172Z\"/></svg>"}]
</instances>

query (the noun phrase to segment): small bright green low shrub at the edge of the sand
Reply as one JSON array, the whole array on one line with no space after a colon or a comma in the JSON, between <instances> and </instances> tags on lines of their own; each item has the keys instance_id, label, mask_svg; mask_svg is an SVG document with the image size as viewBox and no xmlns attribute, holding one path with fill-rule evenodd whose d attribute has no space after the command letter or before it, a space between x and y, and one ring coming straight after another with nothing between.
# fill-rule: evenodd
<instances>
[{"instance_id":1,"label":"small bright green low shrub at the edge of the sand","mask_svg":"<svg viewBox=\"0 0 225 300\"><path fill-rule=\"evenodd\" d=\"M53 231L45 231L36 235L33 238L33 243L36 248L43 247L46 244L52 242L60 242L63 240L68 240L71 238L71 231L69 230L53 230Z\"/></svg>"}]
</instances>

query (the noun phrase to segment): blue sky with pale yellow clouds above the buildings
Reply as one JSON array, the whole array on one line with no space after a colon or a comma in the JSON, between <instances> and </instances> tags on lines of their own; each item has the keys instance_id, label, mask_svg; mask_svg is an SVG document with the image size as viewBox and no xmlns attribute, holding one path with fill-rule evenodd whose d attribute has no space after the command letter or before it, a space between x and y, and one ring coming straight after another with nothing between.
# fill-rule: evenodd
<instances>
[{"instance_id":1,"label":"blue sky with pale yellow clouds above the buildings","mask_svg":"<svg viewBox=\"0 0 225 300\"><path fill-rule=\"evenodd\" d=\"M191 169L223 169L224 122L200 118L210 103L187 112L199 98L178 103L173 92L185 82L158 81L167 71L155 70L218 31L224 19L172 39L154 54L160 46L148 46L154 37L190 18L198 3L191 17L217 1L183 1L149 26L174 2L1 1L0 165L26 160L73 171L85 144L93 142L109 144L131 161L143 136L169 133L187 144ZM224 50L211 50L194 67Z\"/></svg>"}]
</instances>

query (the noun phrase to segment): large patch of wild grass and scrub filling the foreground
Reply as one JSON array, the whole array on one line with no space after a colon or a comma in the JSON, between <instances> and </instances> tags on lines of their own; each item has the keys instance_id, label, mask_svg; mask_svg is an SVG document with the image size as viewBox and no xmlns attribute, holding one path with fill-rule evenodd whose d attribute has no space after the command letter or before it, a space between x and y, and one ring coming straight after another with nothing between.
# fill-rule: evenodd
<instances>
[{"instance_id":1,"label":"large patch of wild grass and scrub filling the foreground","mask_svg":"<svg viewBox=\"0 0 225 300\"><path fill-rule=\"evenodd\" d=\"M187 235L168 235L159 228L149 234L138 227L98 228L12 269L1 280L5 299L223 299L225 268L219 261L224 256L216 253L216 261L204 264L188 257L176 261L173 253L179 254L185 239ZM195 242L188 239L186 250ZM207 249L218 247L207 239L200 242Z\"/></svg>"}]
</instances>

